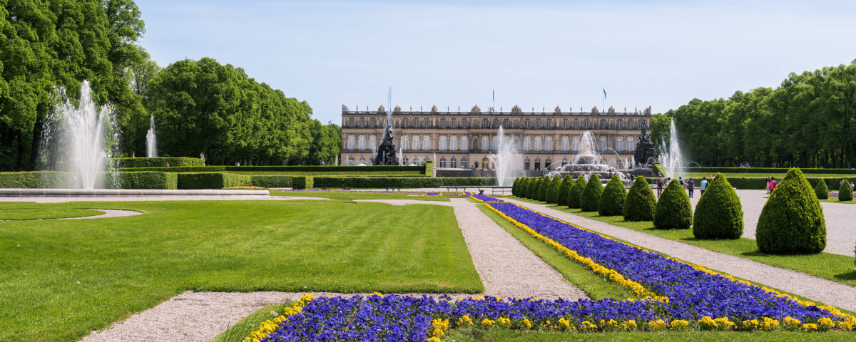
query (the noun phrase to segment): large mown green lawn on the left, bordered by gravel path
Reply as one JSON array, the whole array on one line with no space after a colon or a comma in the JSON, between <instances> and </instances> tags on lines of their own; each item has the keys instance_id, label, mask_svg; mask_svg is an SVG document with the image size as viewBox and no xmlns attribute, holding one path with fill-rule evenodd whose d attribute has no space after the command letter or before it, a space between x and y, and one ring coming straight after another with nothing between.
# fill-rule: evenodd
<instances>
[{"instance_id":1,"label":"large mown green lawn on the left, bordered by gravel path","mask_svg":"<svg viewBox=\"0 0 856 342\"><path fill-rule=\"evenodd\" d=\"M451 208L341 201L42 204L0 222L0 340L74 341L186 290L481 292Z\"/></svg>"}]
</instances>

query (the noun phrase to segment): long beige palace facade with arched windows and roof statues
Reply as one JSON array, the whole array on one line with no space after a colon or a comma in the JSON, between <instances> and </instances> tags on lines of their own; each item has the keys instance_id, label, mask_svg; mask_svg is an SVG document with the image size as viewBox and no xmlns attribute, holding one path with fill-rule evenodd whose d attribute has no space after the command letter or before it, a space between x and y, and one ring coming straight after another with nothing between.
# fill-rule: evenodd
<instances>
[{"instance_id":1,"label":"long beige palace facade with arched windows and roof statues","mask_svg":"<svg viewBox=\"0 0 856 342\"><path fill-rule=\"evenodd\" d=\"M371 165L383 140L387 115L377 110L349 110L342 105L342 165ZM479 106L461 112L438 110L392 111L395 148L407 165L433 160L434 168L493 168L490 154L499 146L497 133L514 139L524 170L551 170L574 161L580 135L591 131L603 161L618 169L632 168L639 129L650 127L651 107L633 112L524 112L518 106L503 112Z\"/></svg>"}]
</instances>

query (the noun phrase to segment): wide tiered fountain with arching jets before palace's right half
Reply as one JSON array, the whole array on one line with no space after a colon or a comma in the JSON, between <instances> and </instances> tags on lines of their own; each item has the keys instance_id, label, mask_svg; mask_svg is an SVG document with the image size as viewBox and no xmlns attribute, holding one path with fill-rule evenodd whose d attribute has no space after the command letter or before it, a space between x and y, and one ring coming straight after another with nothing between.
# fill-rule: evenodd
<instances>
[{"instance_id":1,"label":"wide tiered fountain with arching jets before palace's right half","mask_svg":"<svg viewBox=\"0 0 856 342\"><path fill-rule=\"evenodd\" d=\"M609 166L609 164L603 160L603 157L597 153L597 144L595 144L594 135L591 134L591 131L586 131L580 134L579 147L579 152L574 156L573 161L562 167L556 168L556 171L550 171L547 175L550 178L556 175L560 175L562 177L571 175L575 179L580 177L581 174L597 174L597 177L605 183L608 182L613 175L617 174L625 185L629 185L632 182L632 180L627 177L627 174L621 173L615 170L615 168ZM613 151L615 152L615 150ZM617 153L618 152L615 152L616 156Z\"/></svg>"}]
</instances>

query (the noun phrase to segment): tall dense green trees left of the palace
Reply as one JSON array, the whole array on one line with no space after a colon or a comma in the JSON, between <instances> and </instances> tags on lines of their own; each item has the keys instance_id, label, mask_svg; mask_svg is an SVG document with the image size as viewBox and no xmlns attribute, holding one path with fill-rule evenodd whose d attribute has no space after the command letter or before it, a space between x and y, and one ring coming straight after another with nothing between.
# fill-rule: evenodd
<instances>
[{"instance_id":1,"label":"tall dense green trees left of the palace","mask_svg":"<svg viewBox=\"0 0 856 342\"><path fill-rule=\"evenodd\" d=\"M115 110L123 156L145 155L153 115L160 156L333 162L339 127L313 120L306 102L210 58L160 68L138 44L144 33L132 0L0 0L0 170L37 167L56 89L76 98L83 80Z\"/></svg>"}]
</instances>

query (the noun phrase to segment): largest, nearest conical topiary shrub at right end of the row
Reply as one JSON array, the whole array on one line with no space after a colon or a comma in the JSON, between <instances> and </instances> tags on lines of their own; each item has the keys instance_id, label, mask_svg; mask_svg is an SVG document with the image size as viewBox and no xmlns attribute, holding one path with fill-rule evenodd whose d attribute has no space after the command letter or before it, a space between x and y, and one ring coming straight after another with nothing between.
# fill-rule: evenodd
<instances>
[{"instance_id":1,"label":"largest, nearest conical topiary shrub at right end of the row","mask_svg":"<svg viewBox=\"0 0 856 342\"><path fill-rule=\"evenodd\" d=\"M823 208L799 168L788 170L764 203L755 242L768 254L820 253L826 248Z\"/></svg>"}]
</instances>

